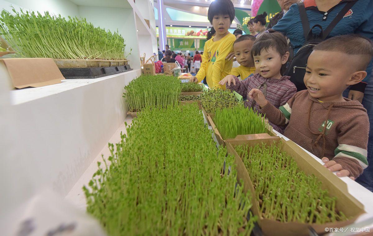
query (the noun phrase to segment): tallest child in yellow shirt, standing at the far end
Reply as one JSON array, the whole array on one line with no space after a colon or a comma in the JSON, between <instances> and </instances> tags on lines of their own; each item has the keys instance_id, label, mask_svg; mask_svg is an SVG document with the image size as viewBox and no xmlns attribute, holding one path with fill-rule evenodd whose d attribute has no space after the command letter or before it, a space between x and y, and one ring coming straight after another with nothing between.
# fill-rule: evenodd
<instances>
[{"instance_id":1,"label":"tallest child in yellow shirt, standing at the far end","mask_svg":"<svg viewBox=\"0 0 373 236\"><path fill-rule=\"evenodd\" d=\"M228 32L235 17L235 10L231 0L215 0L210 4L207 17L213 25L216 35L205 43L201 68L190 82L201 82L205 77L210 88L222 88L219 84L232 69L232 61L225 57L233 51L233 42L236 37ZM211 29L212 30L212 29Z\"/></svg>"}]
</instances>

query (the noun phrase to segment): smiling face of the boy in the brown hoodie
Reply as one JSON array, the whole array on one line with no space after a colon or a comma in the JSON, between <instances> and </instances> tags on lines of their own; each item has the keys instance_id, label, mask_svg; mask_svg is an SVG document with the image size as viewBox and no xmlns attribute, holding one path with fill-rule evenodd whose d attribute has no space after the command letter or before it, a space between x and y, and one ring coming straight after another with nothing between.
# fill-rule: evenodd
<instances>
[{"instance_id":1,"label":"smiling face of the boy in the brown hoodie","mask_svg":"<svg viewBox=\"0 0 373 236\"><path fill-rule=\"evenodd\" d=\"M343 91L351 85L356 69L346 62L341 52L313 51L308 57L304 84L310 95L321 101L340 101ZM349 60L350 61L350 60Z\"/></svg>"}]
</instances>

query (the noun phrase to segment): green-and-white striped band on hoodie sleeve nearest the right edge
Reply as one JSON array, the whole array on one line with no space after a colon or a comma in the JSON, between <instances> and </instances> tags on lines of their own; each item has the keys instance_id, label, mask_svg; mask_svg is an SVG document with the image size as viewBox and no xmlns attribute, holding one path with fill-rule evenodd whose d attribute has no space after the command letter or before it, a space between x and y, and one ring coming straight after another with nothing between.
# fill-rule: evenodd
<instances>
[{"instance_id":1,"label":"green-and-white striped band on hoodie sleeve nearest the right edge","mask_svg":"<svg viewBox=\"0 0 373 236\"><path fill-rule=\"evenodd\" d=\"M368 167L366 149L359 148L357 146L347 145L347 144L340 144L335 149L334 154L335 154L335 157L343 156L343 157L357 160L363 169Z\"/></svg>"}]
</instances>

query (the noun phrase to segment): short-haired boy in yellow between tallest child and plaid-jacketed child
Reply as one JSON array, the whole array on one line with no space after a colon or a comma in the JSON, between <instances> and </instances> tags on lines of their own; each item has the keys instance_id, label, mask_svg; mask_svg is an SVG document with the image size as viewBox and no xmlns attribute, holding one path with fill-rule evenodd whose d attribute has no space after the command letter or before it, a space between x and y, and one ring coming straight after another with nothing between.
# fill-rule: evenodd
<instances>
[{"instance_id":1,"label":"short-haired boy in yellow between tallest child and plaid-jacketed child","mask_svg":"<svg viewBox=\"0 0 373 236\"><path fill-rule=\"evenodd\" d=\"M250 51L253 48L255 41L253 35L242 35L233 43L233 52L237 62L240 64L239 67L231 69L229 75L233 78L233 75L239 77L241 80L249 77L249 75L255 73L255 65L253 58L251 58ZM225 77L227 78L227 77Z\"/></svg>"}]
</instances>

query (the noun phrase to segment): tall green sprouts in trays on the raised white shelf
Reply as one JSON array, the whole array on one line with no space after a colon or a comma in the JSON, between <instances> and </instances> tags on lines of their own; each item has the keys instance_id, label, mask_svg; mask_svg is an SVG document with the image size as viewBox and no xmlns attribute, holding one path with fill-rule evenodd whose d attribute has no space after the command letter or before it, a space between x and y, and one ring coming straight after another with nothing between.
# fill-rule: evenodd
<instances>
[{"instance_id":1,"label":"tall green sprouts in trays on the raised white shelf","mask_svg":"<svg viewBox=\"0 0 373 236\"><path fill-rule=\"evenodd\" d=\"M85 18L53 16L49 12L13 14L2 10L0 35L16 56L53 59L125 60L125 42L118 32L95 27ZM128 55L127 55L128 56Z\"/></svg>"}]
</instances>

